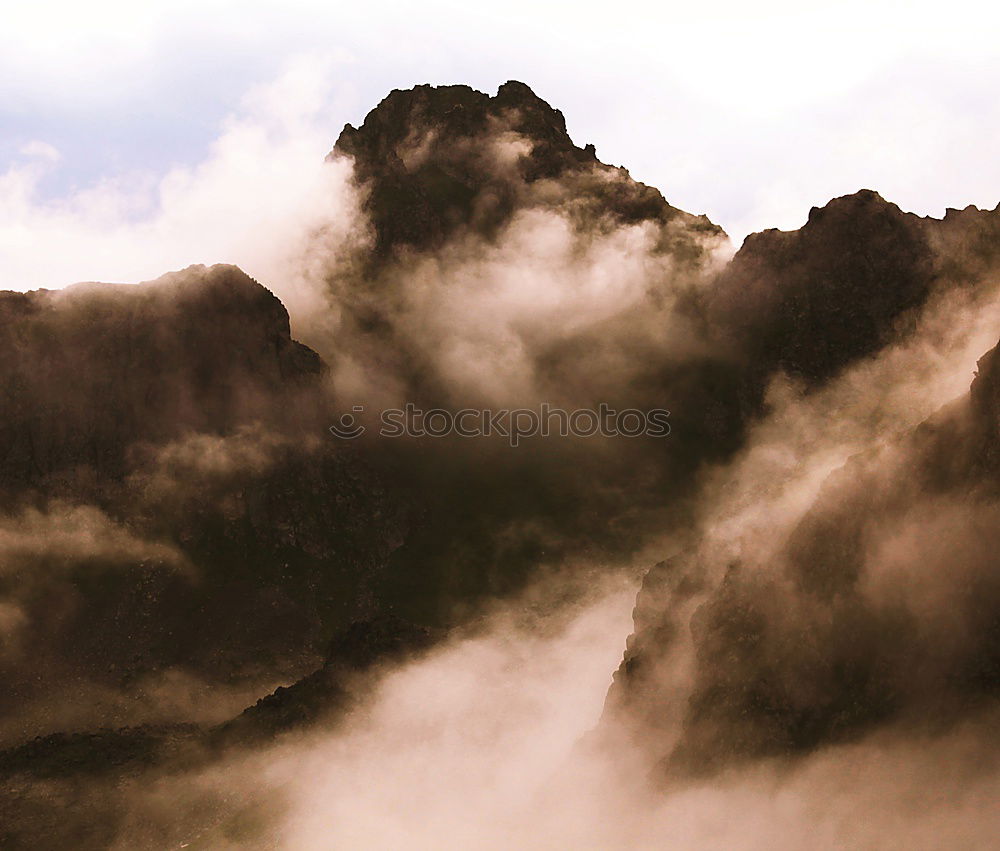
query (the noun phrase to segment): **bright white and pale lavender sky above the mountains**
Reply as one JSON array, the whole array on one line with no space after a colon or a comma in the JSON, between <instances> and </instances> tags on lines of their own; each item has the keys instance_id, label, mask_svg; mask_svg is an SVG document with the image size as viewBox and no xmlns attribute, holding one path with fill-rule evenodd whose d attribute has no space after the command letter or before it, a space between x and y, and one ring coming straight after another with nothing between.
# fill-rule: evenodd
<instances>
[{"instance_id":1,"label":"bright white and pale lavender sky above the mountains","mask_svg":"<svg viewBox=\"0 0 1000 851\"><path fill-rule=\"evenodd\" d=\"M162 235L164 186L212 173L226 145L241 203L256 187L294 207L286 183L311 182L345 123L424 82L528 83L578 144L736 245L862 187L922 215L992 209L998 24L970 0L17 4L0 30L0 287L144 271L115 261L129 252L109 230L150 270L239 259L203 256L203 222L163 251L135 227ZM234 165L250 125L259 144ZM35 269L40 246L60 262Z\"/></svg>"}]
</instances>

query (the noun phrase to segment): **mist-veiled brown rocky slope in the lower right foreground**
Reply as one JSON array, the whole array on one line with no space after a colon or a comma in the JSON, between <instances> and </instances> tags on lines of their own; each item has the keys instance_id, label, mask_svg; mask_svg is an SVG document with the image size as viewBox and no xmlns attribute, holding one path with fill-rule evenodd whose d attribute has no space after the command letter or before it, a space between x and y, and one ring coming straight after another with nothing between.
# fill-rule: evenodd
<instances>
[{"instance_id":1,"label":"mist-veiled brown rocky slope in the lower right foreground","mask_svg":"<svg viewBox=\"0 0 1000 851\"><path fill-rule=\"evenodd\" d=\"M705 564L695 547L653 567L608 717L645 731L672 770L702 773L987 706L998 393L993 349L968 396L832 474L769 563Z\"/></svg>"}]
</instances>

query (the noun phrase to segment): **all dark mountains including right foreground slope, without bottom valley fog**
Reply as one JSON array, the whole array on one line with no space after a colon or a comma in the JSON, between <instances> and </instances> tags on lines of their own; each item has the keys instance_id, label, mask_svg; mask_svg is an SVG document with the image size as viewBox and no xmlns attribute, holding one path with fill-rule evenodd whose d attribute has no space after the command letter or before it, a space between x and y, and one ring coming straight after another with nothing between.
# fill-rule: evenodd
<instances>
[{"instance_id":1,"label":"all dark mountains including right foreground slope, without bottom valley fog","mask_svg":"<svg viewBox=\"0 0 1000 851\"><path fill-rule=\"evenodd\" d=\"M328 309L294 317L333 329L315 348L232 266L0 293L7 836L79 846L62 801L106 847L147 781L335 725L498 600L544 580L561 611L664 541L602 729L670 777L995 699L1000 355L904 434L879 397L930 382L963 323L997 338L1000 207L922 218L862 190L733 251L513 81L394 91L329 156L361 214ZM328 431L408 402L671 430ZM860 449L785 528L770 471L828 433L830 457ZM763 543L729 546L713 511L737 498Z\"/></svg>"}]
</instances>

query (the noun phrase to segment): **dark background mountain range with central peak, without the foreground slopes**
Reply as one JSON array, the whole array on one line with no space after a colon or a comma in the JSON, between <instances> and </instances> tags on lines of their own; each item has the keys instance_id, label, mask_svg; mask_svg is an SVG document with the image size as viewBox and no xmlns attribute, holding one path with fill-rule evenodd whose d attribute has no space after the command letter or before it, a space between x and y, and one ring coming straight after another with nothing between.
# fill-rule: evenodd
<instances>
[{"instance_id":1,"label":"dark background mountain range with central peak, without the foreground slopes","mask_svg":"<svg viewBox=\"0 0 1000 851\"><path fill-rule=\"evenodd\" d=\"M395 91L331 156L375 233L331 272L335 366L427 407L664 408L670 437L333 440L336 375L234 267L4 294L5 735L63 723L36 702L81 674L81 707L176 670L270 687L358 617L449 626L542 565L586 584L628 564L690 524L776 376L815 391L905 339L940 294L984 286L1000 227L863 191L720 263L719 228L516 82ZM518 279L536 267L544 307ZM113 717L158 717L139 705Z\"/></svg>"}]
</instances>

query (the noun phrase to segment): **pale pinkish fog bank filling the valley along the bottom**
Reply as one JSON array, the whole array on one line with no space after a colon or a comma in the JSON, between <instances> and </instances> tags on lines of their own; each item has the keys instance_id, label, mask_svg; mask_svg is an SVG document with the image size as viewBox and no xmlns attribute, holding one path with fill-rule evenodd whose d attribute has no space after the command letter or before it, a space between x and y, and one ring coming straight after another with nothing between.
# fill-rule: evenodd
<instances>
[{"instance_id":1,"label":"pale pinkish fog bank filling the valley along the bottom","mask_svg":"<svg viewBox=\"0 0 1000 851\"><path fill-rule=\"evenodd\" d=\"M545 596L553 589L535 591ZM595 742L625 586L545 619L515 605L390 670L335 726L109 790L113 847L931 848L989 844L995 713L666 787ZM647 743L639 738L632 747ZM100 788L94 784L91 788ZM103 793L102 793L103 794Z\"/></svg>"}]
</instances>

